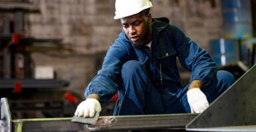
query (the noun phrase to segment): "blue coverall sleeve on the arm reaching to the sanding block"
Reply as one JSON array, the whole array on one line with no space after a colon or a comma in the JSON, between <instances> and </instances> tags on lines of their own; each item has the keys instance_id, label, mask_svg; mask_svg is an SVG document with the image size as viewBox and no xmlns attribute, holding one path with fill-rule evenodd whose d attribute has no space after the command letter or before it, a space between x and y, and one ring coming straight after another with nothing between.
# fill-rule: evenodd
<instances>
[{"instance_id":1,"label":"blue coverall sleeve on the arm reaching to the sanding block","mask_svg":"<svg viewBox=\"0 0 256 132\"><path fill-rule=\"evenodd\" d=\"M89 94L98 94L100 102L108 101L118 91L116 80L120 74L120 69L124 62L125 56L128 55L128 50L123 42L116 40L110 49L108 49L102 69L88 84L84 96Z\"/></svg>"}]
</instances>

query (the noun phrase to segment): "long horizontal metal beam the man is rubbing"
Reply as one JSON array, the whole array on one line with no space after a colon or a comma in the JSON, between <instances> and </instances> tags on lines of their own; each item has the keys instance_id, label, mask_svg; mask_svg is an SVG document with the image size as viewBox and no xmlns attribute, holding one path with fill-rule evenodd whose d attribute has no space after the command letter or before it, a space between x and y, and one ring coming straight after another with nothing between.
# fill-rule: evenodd
<instances>
[{"instance_id":1,"label":"long horizontal metal beam the man is rubbing","mask_svg":"<svg viewBox=\"0 0 256 132\"><path fill-rule=\"evenodd\" d=\"M128 131L149 129L183 129L197 114L167 114L147 116L102 116L96 125L75 123L71 118L16 119L13 129L22 131ZM16 131L16 130L15 130Z\"/></svg>"}]
</instances>

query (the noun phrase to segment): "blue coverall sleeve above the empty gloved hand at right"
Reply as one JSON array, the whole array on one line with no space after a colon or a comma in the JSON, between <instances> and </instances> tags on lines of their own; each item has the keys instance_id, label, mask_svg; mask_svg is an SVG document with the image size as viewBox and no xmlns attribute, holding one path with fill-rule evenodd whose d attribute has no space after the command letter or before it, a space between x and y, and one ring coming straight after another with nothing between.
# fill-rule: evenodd
<instances>
[{"instance_id":1,"label":"blue coverall sleeve above the empty gloved hand at right","mask_svg":"<svg viewBox=\"0 0 256 132\"><path fill-rule=\"evenodd\" d=\"M173 39L180 63L185 69L192 72L190 82L196 79L202 81L204 86L208 86L215 74L215 62L205 49L200 48L198 44L188 38L180 28L171 27L172 34L175 34Z\"/></svg>"}]
</instances>

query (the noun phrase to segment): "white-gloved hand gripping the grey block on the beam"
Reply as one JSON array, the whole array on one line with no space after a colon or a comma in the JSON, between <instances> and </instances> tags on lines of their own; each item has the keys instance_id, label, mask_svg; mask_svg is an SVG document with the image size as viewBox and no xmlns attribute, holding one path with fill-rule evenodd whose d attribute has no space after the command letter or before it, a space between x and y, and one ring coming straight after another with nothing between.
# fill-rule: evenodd
<instances>
[{"instance_id":1,"label":"white-gloved hand gripping the grey block on the beam","mask_svg":"<svg viewBox=\"0 0 256 132\"><path fill-rule=\"evenodd\" d=\"M100 102L94 98L87 98L77 106L76 112L74 112L74 116L94 117L96 112L100 111Z\"/></svg>"}]
</instances>

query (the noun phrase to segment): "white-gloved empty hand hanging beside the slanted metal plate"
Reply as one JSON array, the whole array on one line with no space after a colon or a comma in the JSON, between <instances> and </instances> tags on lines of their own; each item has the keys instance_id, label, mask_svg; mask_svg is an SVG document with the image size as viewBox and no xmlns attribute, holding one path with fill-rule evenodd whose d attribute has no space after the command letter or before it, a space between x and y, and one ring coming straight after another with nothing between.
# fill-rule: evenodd
<instances>
[{"instance_id":1,"label":"white-gloved empty hand hanging beside the slanted metal plate","mask_svg":"<svg viewBox=\"0 0 256 132\"><path fill-rule=\"evenodd\" d=\"M209 102L200 88L192 88L187 92L188 104L190 104L191 113L201 113L208 106Z\"/></svg>"}]
</instances>

